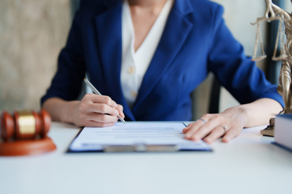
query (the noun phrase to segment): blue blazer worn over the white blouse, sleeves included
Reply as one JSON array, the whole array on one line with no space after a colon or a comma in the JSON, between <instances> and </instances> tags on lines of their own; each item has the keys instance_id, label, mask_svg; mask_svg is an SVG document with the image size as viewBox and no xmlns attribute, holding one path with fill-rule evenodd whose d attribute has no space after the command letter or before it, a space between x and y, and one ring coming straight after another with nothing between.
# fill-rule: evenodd
<instances>
[{"instance_id":1,"label":"blue blazer worn over the white blouse, sleeves included","mask_svg":"<svg viewBox=\"0 0 292 194\"><path fill-rule=\"evenodd\" d=\"M121 7L121 0L81 1L41 103L50 97L76 99L87 72L103 95L124 106L126 120L191 120L190 93L211 71L241 104L268 97L283 106L276 86L225 26L222 6L176 0L130 110L120 81Z\"/></svg>"}]
</instances>

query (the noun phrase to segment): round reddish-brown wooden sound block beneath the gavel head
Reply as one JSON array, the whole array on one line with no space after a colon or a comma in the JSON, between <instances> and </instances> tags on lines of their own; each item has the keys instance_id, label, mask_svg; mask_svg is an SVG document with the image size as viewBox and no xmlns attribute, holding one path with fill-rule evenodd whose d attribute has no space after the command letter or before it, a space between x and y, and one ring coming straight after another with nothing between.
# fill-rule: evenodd
<instances>
[{"instance_id":1,"label":"round reddish-brown wooden sound block beneath the gavel head","mask_svg":"<svg viewBox=\"0 0 292 194\"><path fill-rule=\"evenodd\" d=\"M0 156L24 156L51 152L57 147L49 137L36 140L0 142Z\"/></svg>"}]
</instances>

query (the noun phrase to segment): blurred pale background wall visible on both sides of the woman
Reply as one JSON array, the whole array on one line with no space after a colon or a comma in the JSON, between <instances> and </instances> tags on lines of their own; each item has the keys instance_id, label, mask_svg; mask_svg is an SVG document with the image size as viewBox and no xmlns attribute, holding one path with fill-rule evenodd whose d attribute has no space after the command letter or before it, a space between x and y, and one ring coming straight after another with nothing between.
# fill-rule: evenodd
<instances>
[{"instance_id":1,"label":"blurred pale background wall visible on both sides of the woman","mask_svg":"<svg viewBox=\"0 0 292 194\"><path fill-rule=\"evenodd\" d=\"M0 1L0 111L40 108L40 98L56 71L58 54L65 45L72 10L78 1ZM265 0L214 1L223 5L227 26L245 47L246 55L252 56L256 26L250 22L263 16ZM285 9L291 12L291 2L283 2ZM266 47L267 23L263 22L261 29ZM267 60L270 59L258 63L266 73ZM237 103L224 88L221 89L219 111Z\"/></svg>"}]
</instances>

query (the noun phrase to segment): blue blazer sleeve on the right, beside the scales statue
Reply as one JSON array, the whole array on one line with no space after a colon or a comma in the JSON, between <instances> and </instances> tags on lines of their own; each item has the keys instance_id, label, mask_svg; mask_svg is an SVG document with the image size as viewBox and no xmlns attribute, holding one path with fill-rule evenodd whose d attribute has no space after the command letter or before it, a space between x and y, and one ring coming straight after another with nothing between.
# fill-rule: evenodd
<instances>
[{"instance_id":1,"label":"blue blazer sleeve on the right, beside the scales statue","mask_svg":"<svg viewBox=\"0 0 292 194\"><path fill-rule=\"evenodd\" d=\"M208 45L208 69L241 104L272 98L284 107L277 86L267 81L263 71L245 56L243 47L227 29L222 14L223 7L218 6Z\"/></svg>"}]
</instances>

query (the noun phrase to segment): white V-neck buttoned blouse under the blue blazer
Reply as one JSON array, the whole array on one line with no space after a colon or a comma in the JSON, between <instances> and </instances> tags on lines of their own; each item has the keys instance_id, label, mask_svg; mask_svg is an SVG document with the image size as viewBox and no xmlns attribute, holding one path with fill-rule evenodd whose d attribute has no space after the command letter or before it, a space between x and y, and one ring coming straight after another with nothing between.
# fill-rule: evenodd
<instances>
[{"instance_id":1,"label":"white V-neck buttoned blouse under the blue blazer","mask_svg":"<svg viewBox=\"0 0 292 194\"><path fill-rule=\"evenodd\" d=\"M129 3L127 0L123 2L121 87L130 108L132 108L136 100L145 72L158 46L173 1L166 1L146 38L136 52L134 49L135 31Z\"/></svg>"}]
</instances>

